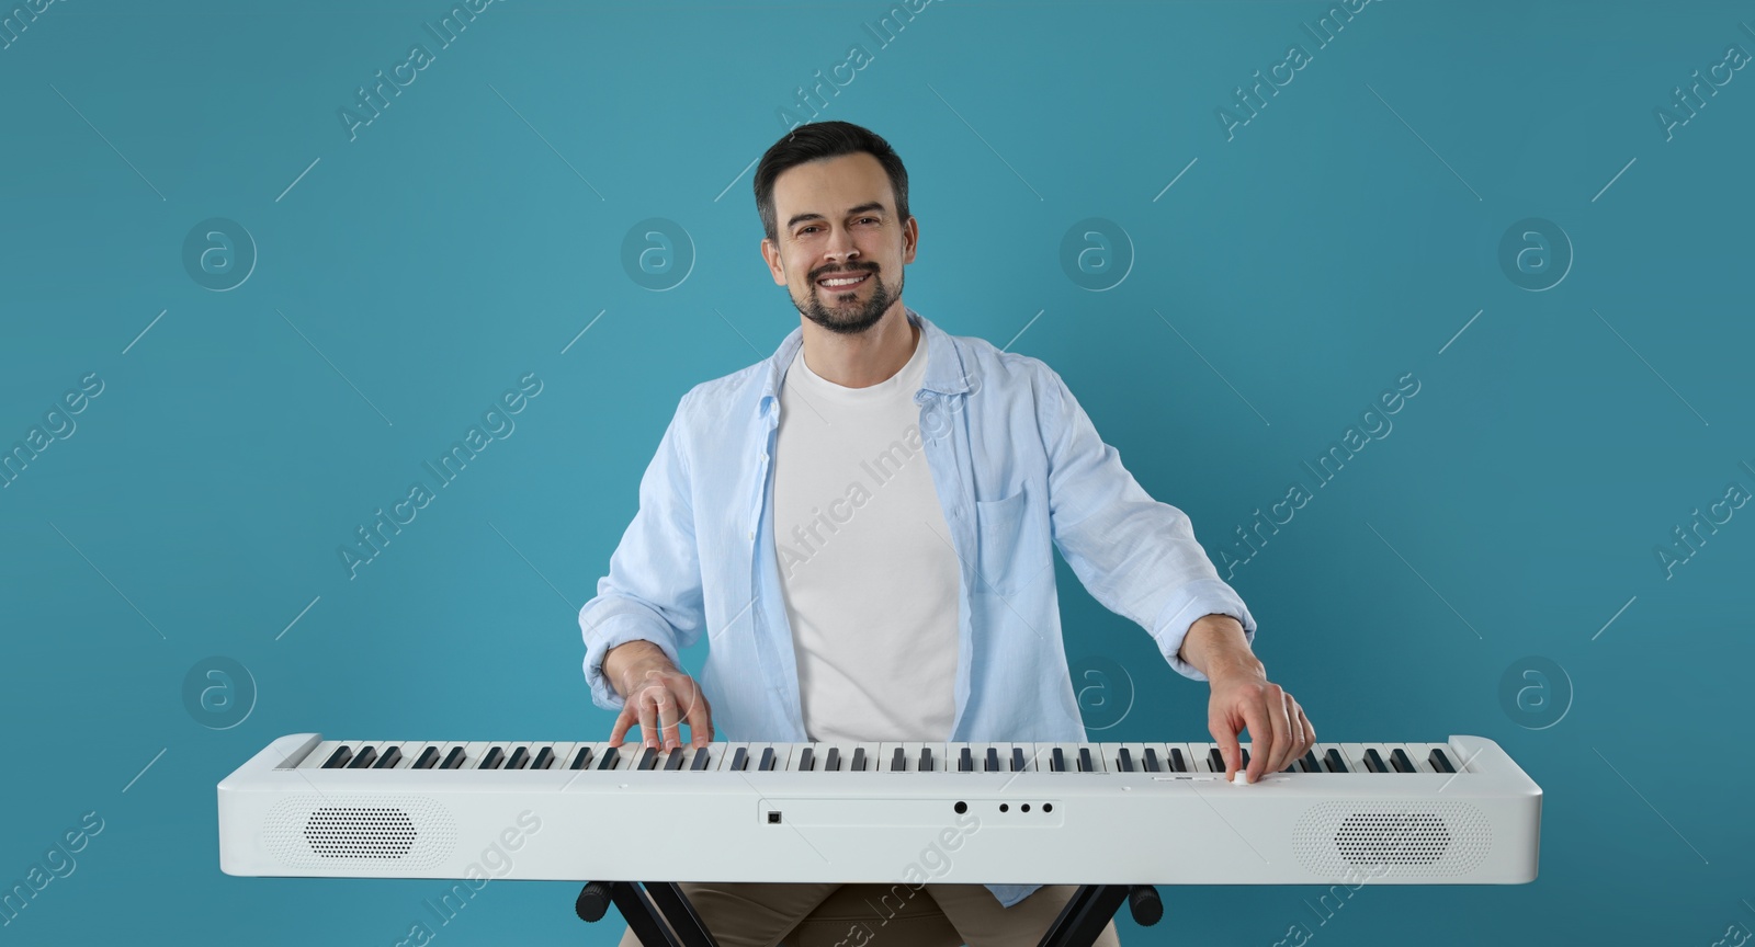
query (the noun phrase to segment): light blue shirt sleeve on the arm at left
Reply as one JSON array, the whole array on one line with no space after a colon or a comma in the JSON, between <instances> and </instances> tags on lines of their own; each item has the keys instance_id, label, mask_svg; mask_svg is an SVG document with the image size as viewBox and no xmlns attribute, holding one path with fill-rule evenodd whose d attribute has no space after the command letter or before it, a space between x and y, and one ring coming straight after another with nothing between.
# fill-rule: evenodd
<instances>
[{"instance_id":1,"label":"light blue shirt sleeve on the arm at left","mask_svg":"<svg viewBox=\"0 0 1755 947\"><path fill-rule=\"evenodd\" d=\"M591 703L620 710L621 694L604 679L609 649L648 640L681 666L677 645L688 647L706 623L688 454L683 444L690 400L677 403L658 452L641 477L641 505L609 558L609 575L597 596L579 609L584 635L584 679Z\"/></svg>"}]
</instances>

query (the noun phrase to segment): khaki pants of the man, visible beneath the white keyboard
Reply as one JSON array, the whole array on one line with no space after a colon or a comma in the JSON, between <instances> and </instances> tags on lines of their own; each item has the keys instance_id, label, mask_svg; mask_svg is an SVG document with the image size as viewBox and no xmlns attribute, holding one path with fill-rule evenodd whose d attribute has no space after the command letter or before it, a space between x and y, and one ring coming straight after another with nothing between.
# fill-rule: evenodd
<instances>
[{"instance_id":1,"label":"khaki pants of the man, visible beneath the white keyboard","mask_svg":"<svg viewBox=\"0 0 1755 947\"><path fill-rule=\"evenodd\" d=\"M679 882L721 947L1034 947L1078 886L1000 907L979 884ZM784 938L784 940L783 940ZM1095 947L1120 947L1111 921ZM634 931L621 947L644 947Z\"/></svg>"}]
</instances>

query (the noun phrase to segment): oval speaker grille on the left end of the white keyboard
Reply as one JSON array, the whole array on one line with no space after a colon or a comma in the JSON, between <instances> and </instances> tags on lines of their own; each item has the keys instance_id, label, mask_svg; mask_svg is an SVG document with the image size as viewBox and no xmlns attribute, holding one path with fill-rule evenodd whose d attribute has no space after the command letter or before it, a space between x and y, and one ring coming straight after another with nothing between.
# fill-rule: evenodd
<instances>
[{"instance_id":1,"label":"oval speaker grille on the left end of the white keyboard","mask_svg":"<svg viewBox=\"0 0 1755 947\"><path fill-rule=\"evenodd\" d=\"M456 819L421 796L291 796L269 810L263 844L288 868L433 868L456 847Z\"/></svg>"}]
</instances>

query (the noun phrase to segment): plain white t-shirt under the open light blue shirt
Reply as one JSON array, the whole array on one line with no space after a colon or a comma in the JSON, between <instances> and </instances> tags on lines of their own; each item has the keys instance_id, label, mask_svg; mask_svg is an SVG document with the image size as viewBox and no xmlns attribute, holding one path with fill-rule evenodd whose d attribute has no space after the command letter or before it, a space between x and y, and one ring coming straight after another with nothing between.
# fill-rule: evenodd
<instances>
[{"instance_id":1,"label":"plain white t-shirt under the open light blue shirt","mask_svg":"<svg viewBox=\"0 0 1755 947\"><path fill-rule=\"evenodd\" d=\"M948 740L956 551L921 449L927 340L870 388L811 372L779 396L774 556L811 740Z\"/></svg>"}]
</instances>

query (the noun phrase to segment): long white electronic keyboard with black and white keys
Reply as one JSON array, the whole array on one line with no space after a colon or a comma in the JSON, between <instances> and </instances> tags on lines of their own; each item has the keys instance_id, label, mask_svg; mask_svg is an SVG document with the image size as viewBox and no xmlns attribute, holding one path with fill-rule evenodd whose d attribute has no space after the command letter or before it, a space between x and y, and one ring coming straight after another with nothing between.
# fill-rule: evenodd
<instances>
[{"instance_id":1,"label":"long white electronic keyboard with black and white keys","mask_svg":"<svg viewBox=\"0 0 1755 947\"><path fill-rule=\"evenodd\" d=\"M1541 828L1541 787L1483 737L1318 744L1246 784L1216 744L298 733L218 794L219 868L274 877L1520 884Z\"/></svg>"}]
</instances>

